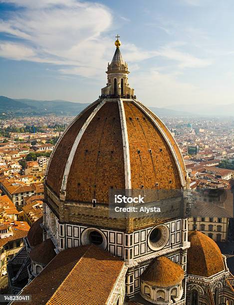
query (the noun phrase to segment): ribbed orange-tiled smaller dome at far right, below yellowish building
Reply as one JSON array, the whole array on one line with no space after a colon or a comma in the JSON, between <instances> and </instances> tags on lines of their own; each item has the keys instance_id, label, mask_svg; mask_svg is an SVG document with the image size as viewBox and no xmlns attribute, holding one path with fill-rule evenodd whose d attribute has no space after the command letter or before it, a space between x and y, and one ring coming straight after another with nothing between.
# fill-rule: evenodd
<instances>
[{"instance_id":1,"label":"ribbed orange-tiled smaller dome at far right, below yellowish building","mask_svg":"<svg viewBox=\"0 0 234 305\"><path fill-rule=\"evenodd\" d=\"M195 230L189 232L191 243L187 256L187 273L209 278L225 269L220 248L207 235Z\"/></svg>"}]
</instances>

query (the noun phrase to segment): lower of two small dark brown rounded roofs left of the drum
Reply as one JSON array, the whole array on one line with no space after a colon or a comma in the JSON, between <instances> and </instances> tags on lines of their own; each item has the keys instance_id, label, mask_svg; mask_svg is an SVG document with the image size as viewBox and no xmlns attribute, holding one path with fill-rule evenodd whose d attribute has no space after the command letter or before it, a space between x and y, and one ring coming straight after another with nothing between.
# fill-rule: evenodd
<instances>
[{"instance_id":1,"label":"lower of two small dark brown rounded roofs left of the drum","mask_svg":"<svg viewBox=\"0 0 234 305\"><path fill-rule=\"evenodd\" d=\"M33 262L47 265L56 255L54 244L50 238L46 239L29 252L29 257Z\"/></svg>"}]
</instances>

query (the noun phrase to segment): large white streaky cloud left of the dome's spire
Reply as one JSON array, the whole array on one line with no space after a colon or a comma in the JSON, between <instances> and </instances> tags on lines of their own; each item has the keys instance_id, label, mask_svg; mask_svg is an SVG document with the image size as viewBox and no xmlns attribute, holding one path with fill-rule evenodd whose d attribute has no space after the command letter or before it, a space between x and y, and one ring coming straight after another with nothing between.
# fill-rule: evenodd
<instances>
[{"instance_id":1,"label":"large white streaky cloud left of the dome's spire","mask_svg":"<svg viewBox=\"0 0 234 305\"><path fill-rule=\"evenodd\" d=\"M0 20L0 32L21 39L20 44L13 39L8 44L1 41L0 56L84 66L90 69L88 75L91 75L95 74L98 62L103 62L105 51L113 44L101 36L112 23L111 12L104 5L77 0L0 2L22 7L12 11L7 20ZM4 50L10 46L12 51L8 55ZM22 54L13 54L16 49L22 50Z\"/></svg>"}]
</instances>

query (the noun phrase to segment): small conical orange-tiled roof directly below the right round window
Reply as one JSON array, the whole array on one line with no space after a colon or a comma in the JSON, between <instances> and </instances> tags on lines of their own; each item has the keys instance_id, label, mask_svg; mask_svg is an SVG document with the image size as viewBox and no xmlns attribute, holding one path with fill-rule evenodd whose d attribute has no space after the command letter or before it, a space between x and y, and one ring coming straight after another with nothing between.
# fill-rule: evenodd
<instances>
[{"instance_id":1,"label":"small conical orange-tiled roof directly below the right round window","mask_svg":"<svg viewBox=\"0 0 234 305\"><path fill-rule=\"evenodd\" d=\"M156 258L141 275L141 280L150 286L172 287L184 279L184 270L165 256Z\"/></svg>"}]
</instances>

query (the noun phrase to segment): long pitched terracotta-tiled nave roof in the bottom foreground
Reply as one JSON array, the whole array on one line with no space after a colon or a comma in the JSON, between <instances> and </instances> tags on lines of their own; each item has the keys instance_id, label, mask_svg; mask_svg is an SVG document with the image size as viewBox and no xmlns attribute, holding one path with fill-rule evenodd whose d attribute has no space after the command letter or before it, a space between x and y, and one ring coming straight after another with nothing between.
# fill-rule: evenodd
<instances>
[{"instance_id":1,"label":"long pitched terracotta-tiled nave roof in the bottom foreground","mask_svg":"<svg viewBox=\"0 0 234 305\"><path fill-rule=\"evenodd\" d=\"M32 296L28 305L105 305L124 266L96 246L70 248L59 252L21 294Z\"/></svg>"}]
</instances>

